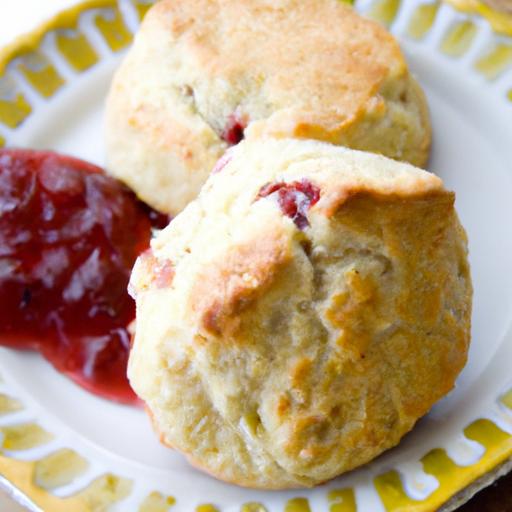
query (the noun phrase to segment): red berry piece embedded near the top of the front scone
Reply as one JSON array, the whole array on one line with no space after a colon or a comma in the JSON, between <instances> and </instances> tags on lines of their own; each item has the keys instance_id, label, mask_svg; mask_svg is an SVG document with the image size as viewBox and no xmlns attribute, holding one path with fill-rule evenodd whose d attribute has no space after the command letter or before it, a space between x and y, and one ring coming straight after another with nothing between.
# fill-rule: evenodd
<instances>
[{"instance_id":1,"label":"red berry piece embedded near the top of the front scone","mask_svg":"<svg viewBox=\"0 0 512 512\"><path fill-rule=\"evenodd\" d=\"M277 195L281 211L290 217L299 229L309 226L308 210L320 199L320 189L309 180L292 183L267 183L261 187L258 198Z\"/></svg>"}]
</instances>

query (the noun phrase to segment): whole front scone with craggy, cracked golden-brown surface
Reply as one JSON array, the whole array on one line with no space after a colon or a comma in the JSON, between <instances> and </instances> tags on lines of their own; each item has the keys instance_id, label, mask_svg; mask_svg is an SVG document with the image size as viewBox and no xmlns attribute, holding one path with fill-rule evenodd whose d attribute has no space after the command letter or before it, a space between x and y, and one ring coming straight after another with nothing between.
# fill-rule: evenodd
<instances>
[{"instance_id":1,"label":"whole front scone with craggy, cracked golden-brown surface","mask_svg":"<svg viewBox=\"0 0 512 512\"><path fill-rule=\"evenodd\" d=\"M312 486L371 460L466 361L453 193L327 143L240 143L131 286L129 378L155 429L243 486Z\"/></svg>"}]
</instances>

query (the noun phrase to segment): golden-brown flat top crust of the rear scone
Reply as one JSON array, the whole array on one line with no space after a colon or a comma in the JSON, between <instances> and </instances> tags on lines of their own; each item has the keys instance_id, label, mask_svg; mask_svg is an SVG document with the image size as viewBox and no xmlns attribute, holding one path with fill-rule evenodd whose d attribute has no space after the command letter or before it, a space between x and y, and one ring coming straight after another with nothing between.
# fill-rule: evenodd
<instances>
[{"instance_id":1,"label":"golden-brown flat top crust of the rear scone","mask_svg":"<svg viewBox=\"0 0 512 512\"><path fill-rule=\"evenodd\" d=\"M338 0L163 1L147 25L176 45L176 80L217 133L237 113L336 140L384 80L407 72L395 39Z\"/></svg>"}]
</instances>

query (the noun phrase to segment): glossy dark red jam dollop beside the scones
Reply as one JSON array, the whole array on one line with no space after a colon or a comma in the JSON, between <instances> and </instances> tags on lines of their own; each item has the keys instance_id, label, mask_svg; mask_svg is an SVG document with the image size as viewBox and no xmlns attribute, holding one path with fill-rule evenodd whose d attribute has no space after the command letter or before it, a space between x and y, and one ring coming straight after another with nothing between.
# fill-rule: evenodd
<instances>
[{"instance_id":1,"label":"glossy dark red jam dollop beside the scones","mask_svg":"<svg viewBox=\"0 0 512 512\"><path fill-rule=\"evenodd\" d=\"M92 164L0 149L0 343L39 350L87 390L136 402L127 285L152 227L167 220Z\"/></svg>"}]
</instances>

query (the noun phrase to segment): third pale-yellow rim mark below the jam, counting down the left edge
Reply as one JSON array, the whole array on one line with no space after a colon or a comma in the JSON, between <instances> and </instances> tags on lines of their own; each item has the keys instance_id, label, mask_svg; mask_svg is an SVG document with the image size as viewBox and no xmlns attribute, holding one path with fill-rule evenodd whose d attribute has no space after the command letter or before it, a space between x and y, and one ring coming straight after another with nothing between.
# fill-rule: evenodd
<instances>
[{"instance_id":1,"label":"third pale-yellow rim mark below the jam, counting down the left edge","mask_svg":"<svg viewBox=\"0 0 512 512\"><path fill-rule=\"evenodd\" d=\"M67 448L36 461L34 465L34 483L49 491L68 485L83 475L89 467L88 462L73 450Z\"/></svg>"}]
</instances>

